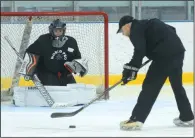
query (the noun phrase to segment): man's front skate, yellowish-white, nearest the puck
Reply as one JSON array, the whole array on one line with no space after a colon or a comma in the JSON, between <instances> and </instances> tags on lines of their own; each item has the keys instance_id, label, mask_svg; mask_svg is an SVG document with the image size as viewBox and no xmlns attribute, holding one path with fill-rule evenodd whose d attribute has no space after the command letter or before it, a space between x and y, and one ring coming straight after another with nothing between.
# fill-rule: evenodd
<instances>
[{"instance_id":1,"label":"man's front skate, yellowish-white, nearest the puck","mask_svg":"<svg viewBox=\"0 0 195 138\"><path fill-rule=\"evenodd\" d=\"M120 129L127 131L141 130L142 126L143 126L142 122L132 120L126 120L120 123Z\"/></svg>"}]
</instances>

